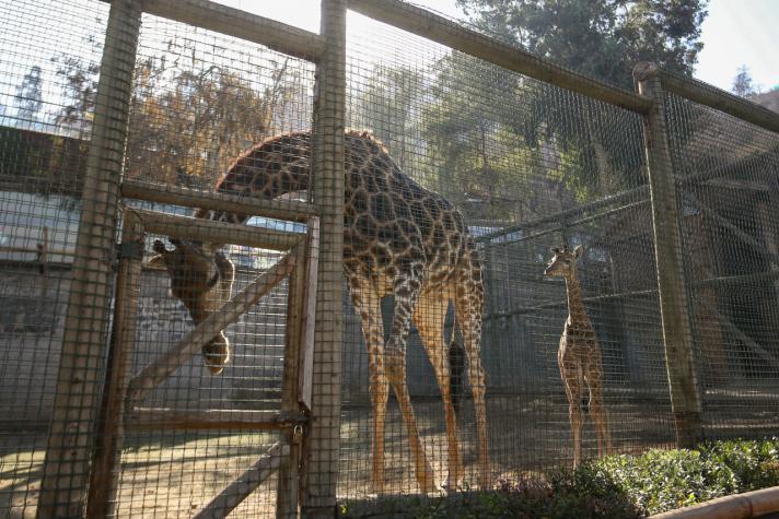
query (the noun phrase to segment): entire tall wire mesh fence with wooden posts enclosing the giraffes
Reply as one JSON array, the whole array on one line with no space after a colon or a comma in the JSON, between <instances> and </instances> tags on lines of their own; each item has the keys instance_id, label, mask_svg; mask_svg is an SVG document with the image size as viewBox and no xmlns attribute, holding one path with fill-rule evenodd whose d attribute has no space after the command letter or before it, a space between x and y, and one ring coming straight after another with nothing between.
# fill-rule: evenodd
<instances>
[{"instance_id":1,"label":"entire tall wire mesh fence with wooden posts enclosing the giraffes","mask_svg":"<svg viewBox=\"0 0 779 519\"><path fill-rule=\"evenodd\" d=\"M580 418L582 459L776 430L779 115L397 0L8 9L3 514L332 516L570 465Z\"/></svg>"}]
</instances>

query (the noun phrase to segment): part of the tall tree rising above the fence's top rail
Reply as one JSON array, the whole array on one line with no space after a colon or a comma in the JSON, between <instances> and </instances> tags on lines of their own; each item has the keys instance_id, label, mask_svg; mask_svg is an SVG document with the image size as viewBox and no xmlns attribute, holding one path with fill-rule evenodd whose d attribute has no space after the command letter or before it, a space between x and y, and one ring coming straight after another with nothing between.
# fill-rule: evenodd
<instances>
[{"instance_id":1,"label":"part of the tall tree rising above the fence's top rail","mask_svg":"<svg viewBox=\"0 0 779 519\"><path fill-rule=\"evenodd\" d=\"M639 61L690 75L706 0L457 0L486 31L632 90Z\"/></svg>"}]
</instances>

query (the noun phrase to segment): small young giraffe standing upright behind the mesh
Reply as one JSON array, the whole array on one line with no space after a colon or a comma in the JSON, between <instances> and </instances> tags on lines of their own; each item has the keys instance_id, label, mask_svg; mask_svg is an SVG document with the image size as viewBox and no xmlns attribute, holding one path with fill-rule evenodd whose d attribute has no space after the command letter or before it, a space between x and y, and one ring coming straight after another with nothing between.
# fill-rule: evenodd
<instances>
[{"instance_id":1,"label":"small young giraffe standing upright behind the mesh","mask_svg":"<svg viewBox=\"0 0 779 519\"><path fill-rule=\"evenodd\" d=\"M573 468L580 463L582 455L582 379L590 389L589 409L595 423L597 456L603 456L604 441L606 452L612 451L608 415L603 404L601 349L597 345L595 329L582 303L582 290L577 272L577 260L582 251L581 245L573 251L568 250L568 246L551 249L555 256L544 271L544 275L565 278L568 291L568 319L560 338L557 364L568 397L568 413L573 432Z\"/></svg>"}]
</instances>

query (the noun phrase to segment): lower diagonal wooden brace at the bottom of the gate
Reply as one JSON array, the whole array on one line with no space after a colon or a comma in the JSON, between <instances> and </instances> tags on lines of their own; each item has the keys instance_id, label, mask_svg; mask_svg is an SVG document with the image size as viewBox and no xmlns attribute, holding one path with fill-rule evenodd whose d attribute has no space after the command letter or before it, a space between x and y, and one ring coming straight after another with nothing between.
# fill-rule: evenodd
<instances>
[{"instance_id":1,"label":"lower diagonal wooden brace at the bottom of the gate","mask_svg":"<svg viewBox=\"0 0 779 519\"><path fill-rule=\"evenodd\" d=\"M235 509L246 497L263 484L276 469L282 458L290 453L290 448L281 441L275 444L268 452L225 487L211 503L198 511L194 519L222 519Z\"/></svg>"}]
</instances>

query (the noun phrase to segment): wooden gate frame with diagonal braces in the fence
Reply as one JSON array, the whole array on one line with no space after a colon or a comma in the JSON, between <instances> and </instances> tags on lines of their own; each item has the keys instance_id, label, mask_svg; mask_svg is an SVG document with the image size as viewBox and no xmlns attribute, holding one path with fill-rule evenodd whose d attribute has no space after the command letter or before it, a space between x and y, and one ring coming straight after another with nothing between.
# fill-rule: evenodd
<instances>
[{"instance_id":1,"label":"wooden gate frame with diagonal braces in the fence","mask_svg":"<svg viewBox=\"0 0 779 519\"><path fill-rule=\"evenodd\" d=\"M141 192L138 190L139 194ZM208 202L200 202L199 205L210 209ZM265 456L209 502L195 517L225 517L276 469L280 472L277 517L297 517L300 451L311 411L306 406L311 397L304 388L310 387L306 377L311 376L313 359L310 353L313 349L313 335L303 333L303 330L306 328L306 310L312 307L311 300L314 299L312 294L316 291L315 264L318 248L318 220L311 216L307 223L306 234L300 235L174 216L154 211L125 209L121 236L124 253L119 264L112 347L101 408L101 429L97 432L97 441L93 451L86 517L96 519L116 514L124 432L127 429L281 430L286 441L275 444ZM231 300L224 303L208 319L197 325L176 345L128 380L136 344L141 262L144 236L148 233L234 243L283 250L288 253L243 291L236 293ZM243 420L236 420L234 412L182 413L167 409L146 410L138 406L160 382L191 358L204 343L235 322L242 314L288 276L290 282L287 340L279 413L253 411L247 412Z\"/></svg>"}]
</instances>

